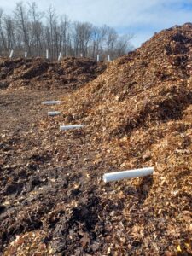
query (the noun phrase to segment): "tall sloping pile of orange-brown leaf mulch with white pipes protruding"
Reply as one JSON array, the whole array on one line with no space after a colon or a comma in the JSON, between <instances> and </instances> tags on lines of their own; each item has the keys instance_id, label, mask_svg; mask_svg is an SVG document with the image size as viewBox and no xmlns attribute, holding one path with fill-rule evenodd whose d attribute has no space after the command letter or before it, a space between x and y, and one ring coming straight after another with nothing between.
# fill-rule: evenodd
<instances>
[{"instance_id":1,"label":"tall sloping pile of orange-brown leaf mulch with white pipes protruding","mask_svg":"<svg viewBox=\"0 0 192 256\"><path fill-rule=\"evenodd\" d=\"M155 34L140 49L113 61L105 73L82 90L64 98L65 123L90 125L87 131L92 141L102 148L100 160L111 163L112 169L155 169L153 180L137 187L143 189L145 199L137 197L137 192L127 192L130 184L139 184L141 179L109 185L119 192L107 194L106 200L122 198L120 205L124 204L114 218L119 218L119 223L122 215L128 223L133 216L137 219L129 227L111 223L112 230L119 230L111 241L113 252L115 247L119 250L117 234L125 237L125 247L137 238L137 253L165 253L173 244L189 245L191 38L191 24ZM155 248L153 242L157 240Z\"/></svg>"}]
</instances>

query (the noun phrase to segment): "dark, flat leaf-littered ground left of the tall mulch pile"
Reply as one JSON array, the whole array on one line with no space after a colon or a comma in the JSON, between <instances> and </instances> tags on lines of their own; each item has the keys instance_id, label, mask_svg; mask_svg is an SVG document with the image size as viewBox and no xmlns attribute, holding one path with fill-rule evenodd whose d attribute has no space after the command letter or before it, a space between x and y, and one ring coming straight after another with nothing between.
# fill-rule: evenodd
<instances>
[{"instance_id":1,"label":"dark, flat leaf-littered ground left of the tall mulch pile","mask_svg":"<svg viewBox=\"0 0 192 256\"><path fill-rule=\"evenodd\" d=\"M103 206L94 184L101 183L104 166L95 161L94 149L87 152L84 131L59 131L61 124L47 117L51 108L41 105L63 94L0 92L3 255L94 254L105 247L99 243ZM47 131L39 128L44 121L50 125Z\"/></svg>"}]
</instances>

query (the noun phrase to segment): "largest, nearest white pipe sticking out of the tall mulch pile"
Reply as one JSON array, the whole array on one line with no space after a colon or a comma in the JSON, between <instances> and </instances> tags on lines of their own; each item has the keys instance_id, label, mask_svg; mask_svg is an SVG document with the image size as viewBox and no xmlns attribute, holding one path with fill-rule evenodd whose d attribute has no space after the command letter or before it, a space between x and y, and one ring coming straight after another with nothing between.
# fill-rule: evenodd
<instances>
[{"instance_id":1,"label":"largest, nearest white pipe sticking out of the tall mulch pile","mask_svg":"<svg viewBox=\"0 0 192 256\"><path fill-rule=\"evenodd\" d=\"M154 167L135 169L124 172L110 172L103 175L103 181L108 183L110 181L117 181L124 178L133 178L133 177L143 177L150 174L153 174Z\"/></svg>"}]
</instances>

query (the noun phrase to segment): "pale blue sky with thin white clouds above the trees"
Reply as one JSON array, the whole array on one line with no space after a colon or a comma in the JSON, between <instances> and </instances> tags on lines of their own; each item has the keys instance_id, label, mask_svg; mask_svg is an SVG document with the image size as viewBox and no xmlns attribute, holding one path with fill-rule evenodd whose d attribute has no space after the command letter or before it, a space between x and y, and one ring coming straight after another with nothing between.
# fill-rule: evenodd
<instances>
[{"instance_id":1,"label":"pale blue sky with thin white clouds above the trees","mask_svg":"<svg viewBox=\"0 0 192 256\"><path fill-rule=\"evenodd\" d=\"M11 13L15 0L1 0L0 7ZM33 1L23 1L30 3ZM46 10L49 4L59 15L70 20L89 21L97 26L113 26L120 34L134 34L132 44L138 47L154 32L185 22L192 22L192 0L37 0Z\"/></svg>"}]
</instances>

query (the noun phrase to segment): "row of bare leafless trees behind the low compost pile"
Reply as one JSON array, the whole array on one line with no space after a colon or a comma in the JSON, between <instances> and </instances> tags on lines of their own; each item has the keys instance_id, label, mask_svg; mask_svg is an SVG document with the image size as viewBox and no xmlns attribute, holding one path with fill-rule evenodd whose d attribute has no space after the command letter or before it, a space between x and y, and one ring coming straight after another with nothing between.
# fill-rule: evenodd
<instances>
[{"instance_id":1,"label":"row of bare leafless trees behind the low compost pile","mask_svg":"<svg viewBox=\"0 0 192 256\"><path fill-rule=\"evenodd\" d=\"M67 15L58 16L49 6L46 12L38 10L37 3L18 2L13 15L0 8L0 55L7 56L11 49L15 55L49 58L84 56L105 60L115 59L131 49L131 35L119 36L110 26L94 26L88 22L71 21Z\"/></svg>"}]
</instances>

